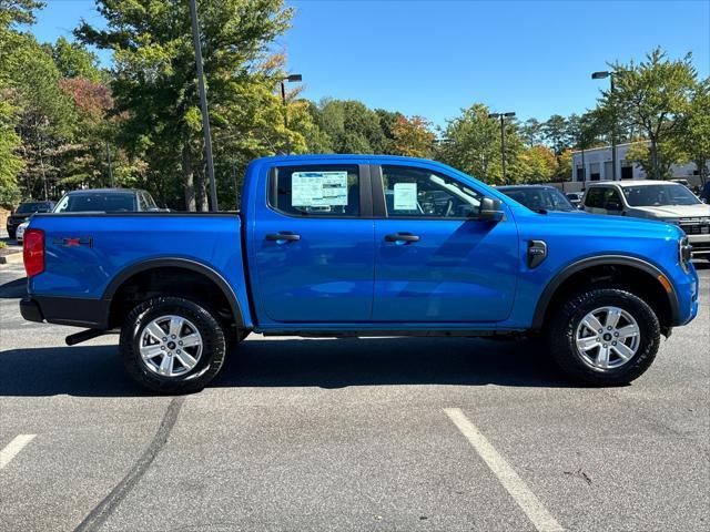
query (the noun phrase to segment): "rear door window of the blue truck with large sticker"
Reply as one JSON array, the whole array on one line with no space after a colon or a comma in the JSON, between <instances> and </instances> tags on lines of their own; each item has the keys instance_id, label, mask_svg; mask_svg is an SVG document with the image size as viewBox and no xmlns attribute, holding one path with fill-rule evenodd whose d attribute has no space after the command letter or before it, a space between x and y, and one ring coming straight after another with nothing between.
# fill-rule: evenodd
<instances>
[{"instance_id":1,"label":"rear door window of the blue truck with large sticker","mask_svg":"<svg viewBox=\"0 0 710 532\"><path fill-rule=\"evenodd\" d=\"M307 165L274 168L268 204L290 216L359 216L356 165Z\"/></svg>"}]
</instances>

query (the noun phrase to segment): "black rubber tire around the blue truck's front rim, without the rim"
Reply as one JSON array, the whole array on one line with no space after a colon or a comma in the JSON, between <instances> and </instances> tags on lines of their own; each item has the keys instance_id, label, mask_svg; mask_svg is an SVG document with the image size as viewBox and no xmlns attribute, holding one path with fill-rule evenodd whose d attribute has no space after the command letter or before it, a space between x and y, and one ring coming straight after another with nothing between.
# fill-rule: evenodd
<instances>
[{"instance_id":1,"label":"black rubber tire around the blue truck's front rim, without the rim","mask_svg":"<svg viewBox=\"0 0 710 532\"><path fill-rule=\"evenodd\" d=\"M595 309L618 307L636 319L640 331L636 354L620 367L591 367L577 349L577 327ZM619 288L597 288L577 294L550 317L547 340L554 360L577 382L594 386L622 386L637 379L651 366L660 346L658 317L638 296Z\"/></svg>"}]
</instances>

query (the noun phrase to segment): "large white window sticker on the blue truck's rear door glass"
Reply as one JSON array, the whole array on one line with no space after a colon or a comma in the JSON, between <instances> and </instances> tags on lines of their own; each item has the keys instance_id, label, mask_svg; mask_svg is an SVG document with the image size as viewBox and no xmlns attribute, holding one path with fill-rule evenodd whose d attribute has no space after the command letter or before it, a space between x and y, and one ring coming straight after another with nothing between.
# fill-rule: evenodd
<instances>
[{"instance_id":1,"label":"large white window sticker on the blue truck's rear door glass","mask_svg":"<svg viewBox=\"0 0 710 532\"><path fill-rule=\"evenodd\" d=\"M291 205L347 205L347 172L294 172L291 175Z\"/></svg>"}]
</instances>

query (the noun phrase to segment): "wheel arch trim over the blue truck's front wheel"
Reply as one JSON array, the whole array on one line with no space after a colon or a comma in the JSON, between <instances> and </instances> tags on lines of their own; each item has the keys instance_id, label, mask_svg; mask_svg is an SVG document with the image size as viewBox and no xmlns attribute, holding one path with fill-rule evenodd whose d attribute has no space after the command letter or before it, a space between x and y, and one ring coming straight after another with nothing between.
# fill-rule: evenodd
<instances>
[{"instance_id":1,"label":"wheel arch trim over the blue truck's front wheel","mask_svg":"<svg viewBox=\"0 0 710 532\"><path fill-rule=\"evenodd\" d=\"M585 272L591 273L592 270L598 270L600 267L615 266L625 268L627 273L629 270L641 273L643 276L640 278L648 279L648 277L652 277L653 284L649 285L649 290L657 295L658 300L653 303L662 307L660 309L655 308L655 310L661 310L661 314L667 315L659 316L659 319L661 320L663 329L669 331L672 326L678 323L679 316L678 296L676 295L672 284L668 279L668 276L655 265L647 260L626 255L602 255L584 258L562 268L547 284L538 299L532 316L532 329L539 330L542 328L547 319L548 310L550 309L550 304L555 300L555 297L560 294L560 289L565 288L566 283ZM665 297L659 296L661 293L665 294Z\"/></svg>"}]
</instances>

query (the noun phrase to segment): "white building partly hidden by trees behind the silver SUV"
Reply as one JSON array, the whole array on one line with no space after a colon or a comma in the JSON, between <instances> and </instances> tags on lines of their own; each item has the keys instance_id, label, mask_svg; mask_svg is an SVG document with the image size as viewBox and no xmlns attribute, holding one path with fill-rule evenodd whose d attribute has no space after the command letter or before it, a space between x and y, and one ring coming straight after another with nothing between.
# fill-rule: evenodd
<instances>
[{"instance_id":1,"label":"white building partly hidden by trees behind the silver SUV","mask_svg":"<svg viewBox=\"0 0 710 532\"><path fill-rule=\"evenodd\" d=\"M626 161L630 146L631 143L617 144L617 180L646 180L647 175L638 164ZM611 168L611 146L572 152L574 182L610 181L613 178ZM693 163L672 165L671 173L673 178L688 180L691 185L700 183L698 168Z\"/></svg>"}]
</instances>

